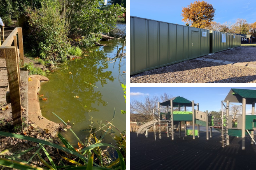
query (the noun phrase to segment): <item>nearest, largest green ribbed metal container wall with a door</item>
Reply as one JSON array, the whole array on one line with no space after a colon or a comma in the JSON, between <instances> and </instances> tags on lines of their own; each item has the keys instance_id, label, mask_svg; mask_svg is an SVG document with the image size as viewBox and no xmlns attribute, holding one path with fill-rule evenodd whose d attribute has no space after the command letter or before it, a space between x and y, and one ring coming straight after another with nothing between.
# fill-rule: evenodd
<instances>
[{"instance_id":1,"label":"nearest, largest green ribbed metal container wall with a door","mask_svg":"<svg viewBox=\"0 0 256 170\"><path fill-rule=\"evenodd\" d=\"M130 75L209 54L209 30L130 17Z\"/></svg>"}]
</instances>

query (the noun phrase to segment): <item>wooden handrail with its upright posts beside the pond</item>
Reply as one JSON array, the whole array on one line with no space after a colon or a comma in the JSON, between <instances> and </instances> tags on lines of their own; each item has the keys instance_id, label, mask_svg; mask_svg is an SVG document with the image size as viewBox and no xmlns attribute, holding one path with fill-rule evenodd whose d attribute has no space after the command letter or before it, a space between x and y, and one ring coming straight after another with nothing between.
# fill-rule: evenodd
<instances>
[{"instance_id":1,"label":"wooden handrail with its upright posts beside the pond","mask_svg":"<svg viewBox=\"0 0 256 170\"><path fill-rule=\"evenodd\" d=\"M0 58L5 58L6 61L14 125L22 124L19 56L24 64L22 28L15 28L0 46Z\"/></svg>"}]
</instances>

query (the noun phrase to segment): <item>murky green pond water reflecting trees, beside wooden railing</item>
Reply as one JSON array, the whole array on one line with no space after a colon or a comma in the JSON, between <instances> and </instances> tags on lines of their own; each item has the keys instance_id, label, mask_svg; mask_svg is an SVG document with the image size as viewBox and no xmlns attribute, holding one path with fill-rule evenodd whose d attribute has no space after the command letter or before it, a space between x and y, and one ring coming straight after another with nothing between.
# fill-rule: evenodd
<instances>
[{"instance_id":1,"label":"murky green pond water reflecting trees, beside wooden railing","mask_svg":"<svg viewBox=\"0 0 256 170\"><path fill-rule=\"evenodd\" d=\"M115 108L113 125L121 131L125 130L126 115L121 114L121 110L126 110L126 104L121 84L126 84L126 74L123 73L126 71L126 57L116 56L117 47L120 48L123 42L123 39L102 41L106 46L87 48L82 59L68 61L62 66L68 69L49 73L47 77L50 81L43 83L39 92L47 97L46 101L40 100L42 115L56 123L60 120L47 112L54 112L65 122L69 120L77 136L84 139L89 131L83 129L90 129L89 125L98 128L100 121L107 124L106 121L112 120ZM102 136L103 130L97 135ZM118 134L117 130L113 131ZM77 143L68 129L65 137L71 143ZM111 135L105 135L103 142L113 142Z\"/></svg>"}]
</instances>

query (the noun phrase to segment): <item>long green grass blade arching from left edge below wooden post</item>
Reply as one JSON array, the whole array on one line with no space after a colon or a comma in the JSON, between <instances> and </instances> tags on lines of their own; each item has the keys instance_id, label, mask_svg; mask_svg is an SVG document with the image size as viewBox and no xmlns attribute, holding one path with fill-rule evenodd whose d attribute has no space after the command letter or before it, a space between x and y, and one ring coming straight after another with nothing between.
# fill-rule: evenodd
<instances>
[{"instance_id":1,"label":"long green grass blade arching from left edge below wooden post","mask_svg":"<svg viewBox=\"0 0 256 170\"><path fill-rule=\"evenodd\" d=\"M20 134L14 134L14 133L9 133L9 132L4 132L4 131L0 131L0 135L2 136L9 136L9 137L15 137L15 138L18 138L18 139L24 139L24 140L29 140L29 141L32 141L32 142L38 142L38 143L41 143L41 144L45 144L45 145L48 145L48 146L52 146L52 147L55 147L55 148L58 148L60 150L63 150L67 153L70 153L70 154L73 154L73 155L76 155L77 157L81 158L81 159L85 159L87 161L89 161L86 157L84 157L83 155L77 153L77 152L74 152L72 150L69 150L65 147L62 147L62 146L59 146L57 144L54 144L54 143L51 143L51 142L48 142L48 141L45 141L45 140L41 140L41 139L37 139L37 138L33 138L33 137L29 137L29 136L24 136L24 135L20 135ZM112 146L113 147L113 146ZM93 163L94 165L96 166L99 166L98 164L96 163Z\"/></svg>"}]
</instances>

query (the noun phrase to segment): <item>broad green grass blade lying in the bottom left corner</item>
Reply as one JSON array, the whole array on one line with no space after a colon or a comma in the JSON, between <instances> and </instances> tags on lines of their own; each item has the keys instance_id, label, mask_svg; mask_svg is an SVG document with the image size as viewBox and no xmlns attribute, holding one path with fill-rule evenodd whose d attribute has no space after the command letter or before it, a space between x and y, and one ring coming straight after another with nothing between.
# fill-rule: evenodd
<instances>
[{"instance_id":1,"label":"broad green grass blade lying in the bottom left corner","mask_svg":"<svg viewBox=\"0 0 256 170\"><path fill-rule=\"evenodd\" d=\"M13 169L20 169L20 170L28 170L28 169L35 169L35 170L46 170L44 168L32 166L23 162L18 162L15 160L8 160L5 158L0 158L0 165L6 166Z\"/></svg>"}]
</instances>

